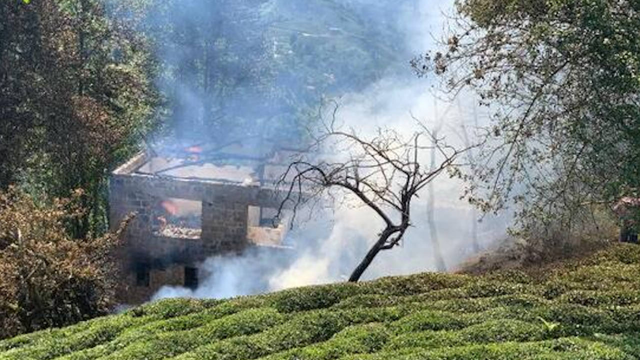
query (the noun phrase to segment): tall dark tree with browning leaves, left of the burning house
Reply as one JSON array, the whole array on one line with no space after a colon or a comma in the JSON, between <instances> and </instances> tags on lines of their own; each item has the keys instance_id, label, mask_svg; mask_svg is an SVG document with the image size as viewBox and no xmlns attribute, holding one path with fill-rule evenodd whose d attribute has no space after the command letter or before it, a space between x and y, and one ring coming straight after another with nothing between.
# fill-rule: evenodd
<instances>
[{"instance_id":1,"label":"tall dark tree with browning leaves, left of the burning house","mask_svg":"<svg viewBox=\"0 0 640 360\"><path fill-rule=\"evenodd\" d=\"M106 176L151 126L147 45L97 0L0 3L0 188L84 189L77 237L106 229Z\"/></svg>"}]
</instances>

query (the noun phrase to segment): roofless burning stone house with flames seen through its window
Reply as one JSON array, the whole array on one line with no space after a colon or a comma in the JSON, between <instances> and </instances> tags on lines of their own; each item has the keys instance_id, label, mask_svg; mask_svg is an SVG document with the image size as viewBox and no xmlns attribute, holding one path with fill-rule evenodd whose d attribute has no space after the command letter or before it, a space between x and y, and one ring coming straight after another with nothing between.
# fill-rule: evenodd
<instances>
[{"instance_id":1,"label":"roofless burning stone house with flames seen through its window","mask_svg":"<svg viewBox=\"0 0 640 360\"><path fill-rule=\"evenodd\" d=\"M165 285L196 288L198 264L250 247L279 251L275 182L291 152L233 143L146 151L109 182L109 222L127 215L120 301L138 304Z\"/></svg>"}]
</instances>

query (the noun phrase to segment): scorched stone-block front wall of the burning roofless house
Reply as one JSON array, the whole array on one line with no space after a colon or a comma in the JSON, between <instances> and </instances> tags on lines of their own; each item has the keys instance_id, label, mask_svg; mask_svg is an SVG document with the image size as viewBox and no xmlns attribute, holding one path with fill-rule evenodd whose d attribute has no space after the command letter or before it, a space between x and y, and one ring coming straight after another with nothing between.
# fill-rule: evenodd
<instances>
[{"instance_id":1,"label":"scorched stone-block front wall of the burning roofless house","mask_svg":"<svg viewBox=\"0 0 640 360\"><path fill-rule=\"evenodd\" d=\"M127 171L137 165L134 160ZM202 204L200 236L179 238L156 231L159 206L166 199ZM184 270L211 256L237 253L252 246L248 236L250 206L276 208L278 204L273 190L258 185L116 171L109 181L109 224L115 229L127 215L136 213L122 249L125 284L120 291L121 301L138 304L148 300L161 286L184 286L184 276L176 275L181 274L179 268ZM136 271L145 266L150 281L137 284L136 278L140 280L141 275Z\"/></svg>"}]
</instances>

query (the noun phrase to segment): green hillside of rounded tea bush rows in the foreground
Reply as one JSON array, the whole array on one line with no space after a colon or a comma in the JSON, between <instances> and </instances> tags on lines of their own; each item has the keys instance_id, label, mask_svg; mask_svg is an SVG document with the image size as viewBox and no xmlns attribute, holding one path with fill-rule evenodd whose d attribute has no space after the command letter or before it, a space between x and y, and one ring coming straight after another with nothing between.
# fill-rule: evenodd
<instances>
[{"instance_id":1,"label":"green hillside of rounded tea bush rows in the foreground","mask_svg":"<svg viewBox=\"0 0 640 360\"><path fill-rule=\"evenodd\" d=\"M0 342L0 359L638 359L640 247L529 272L170 300Z\"/></svg>"}]
</instances>

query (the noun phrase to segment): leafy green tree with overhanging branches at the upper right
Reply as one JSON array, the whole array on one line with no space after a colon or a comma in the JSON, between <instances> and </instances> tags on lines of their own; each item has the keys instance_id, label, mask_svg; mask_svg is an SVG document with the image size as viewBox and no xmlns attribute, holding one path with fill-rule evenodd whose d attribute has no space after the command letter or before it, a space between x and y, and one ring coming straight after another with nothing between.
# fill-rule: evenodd
<instances>
[{"instance_id":1,"label":"leafy green tree with overhanging branches at the upper right","mask_svg":"<svg viewBox=\"0 0 640 360\"><path fill-rule=\"evenodd\" d=\"M639 12L627 0L456 3L446 51L413 65L493 113L479 129L472 201L515 201L524 227L566 228L586 205L639 195Z\"/></svg>"}]
</instances>

